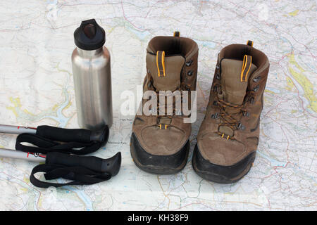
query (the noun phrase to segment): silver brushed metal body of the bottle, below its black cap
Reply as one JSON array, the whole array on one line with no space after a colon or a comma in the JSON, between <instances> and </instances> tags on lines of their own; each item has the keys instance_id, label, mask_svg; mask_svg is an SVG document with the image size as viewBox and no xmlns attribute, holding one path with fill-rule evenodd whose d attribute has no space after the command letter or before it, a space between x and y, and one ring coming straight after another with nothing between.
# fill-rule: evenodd
<instances>
[{"instance_id":1,"label":"silver brushed metal body of the bottle, below its black cap","mask_svg":"<svg viewBox=\"0 0 317 225\"><path fill-rule=\"evenodd\" d=\"M110 53L105 46L96 50L75 48L73 77L80 127L97 130L113 120Z\"/></svg>"}]
</instances>

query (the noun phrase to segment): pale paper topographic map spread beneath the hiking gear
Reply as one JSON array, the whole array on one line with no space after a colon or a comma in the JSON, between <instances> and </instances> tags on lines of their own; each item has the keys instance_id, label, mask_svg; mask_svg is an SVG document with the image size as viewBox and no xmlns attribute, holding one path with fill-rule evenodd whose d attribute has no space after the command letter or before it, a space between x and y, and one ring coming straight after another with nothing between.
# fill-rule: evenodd
<instances>
[{"instance_id":1,"label":"pale paper topographic map spread beneath the hiking gear","mask_svg":"<svg viewBox=\"0 0 317 225\"><path fill-rule=\"evenodd\" d=\"M0 1L0 123L78 128L70 56L73 32L95 18L111 52L113 127L94 153L123 154L120 172L92 186L36 188L35 162L0 158L0 210L317 210L316 1ZM180 31L199 44L197 121L185 169L156 176L130 156L137 93L148 41ZM195 137L209 101L220 49L254 41L271 67L254 167L237 184L215 184L192 169ZM14 149L15 135L0 134ZM60 182L59 180L57 180Z\"/></svg>"}]
</instances>

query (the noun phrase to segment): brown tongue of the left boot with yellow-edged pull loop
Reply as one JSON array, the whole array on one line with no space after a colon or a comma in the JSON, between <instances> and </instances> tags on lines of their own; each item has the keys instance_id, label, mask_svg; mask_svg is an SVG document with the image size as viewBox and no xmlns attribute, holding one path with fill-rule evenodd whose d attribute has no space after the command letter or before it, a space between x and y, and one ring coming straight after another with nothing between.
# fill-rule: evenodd
<instances>
[{"instance_id":1,"label":"brown tongue of the left boot with yellow-edged pull loop","mask_svg":"<svg viewBox=\"0 0 317 225\"><path fill-rule=\"evenodd\" d=\"M185 63L182 56L165 56L162 52L156 56L147 53L147 70L153 78L156 91L175 91L180 87L180 73Z\"/></svg>"}]
</instances>

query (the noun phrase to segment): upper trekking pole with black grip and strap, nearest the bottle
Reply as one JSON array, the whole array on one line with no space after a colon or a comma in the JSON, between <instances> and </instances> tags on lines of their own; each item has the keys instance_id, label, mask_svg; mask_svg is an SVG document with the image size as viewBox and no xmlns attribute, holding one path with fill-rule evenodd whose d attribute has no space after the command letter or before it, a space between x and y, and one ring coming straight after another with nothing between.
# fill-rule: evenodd
<instances>
[{"instance_id":1,"label":"upper trekking pole with black grip and strap, nearest the bottle","mask_svg":"<svg viewBox=\"0 0 317 225\"><path fill-rule=\"evenodd\" d=\"M45 125L35 128L0 124L0 133L19 134L15 144L16 150L43 154L53 150L84 155L93 153L106 144L109 129L108 126L97 131L90 131L88 129L65 129ZM38 148L25 146L22 144L24 142L32 143Z\"/></svg>"}]
</instances>

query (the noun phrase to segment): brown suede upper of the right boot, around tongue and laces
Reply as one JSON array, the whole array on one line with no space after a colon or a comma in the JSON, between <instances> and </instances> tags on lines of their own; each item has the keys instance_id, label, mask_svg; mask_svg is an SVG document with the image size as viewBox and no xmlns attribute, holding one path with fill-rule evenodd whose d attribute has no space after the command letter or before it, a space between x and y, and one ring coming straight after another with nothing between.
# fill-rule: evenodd
<instances>
[{"instance_id":1,"label":"brown suede upper of the right boot, around tongue and laces","mask_svg":"<svg viewBox=\"0 0 317 225\"><path fill-rule=\"evenodd\" d=\"M249 115L244 116L242 113L241 115L235 115L237 120L243 124L244 129L235 129L232 133L232 139L226 139L228 134L219 135L219 132L225 133L221 129L219 131L219 124L223 119L221 117L216 119L212 117L215 113L220 113L219 106L215 105L216 95L220 95L215 86L221 86L225 90L225 87L223 87L225 84L221 84L223 82L222 79L225 79L223 77L225 74L220 71L220 62L227 58L242 60L246 54L252 56L252 63L254 64L248 77L247 90L243 98ZM268 58L261 51L248 45L232 44L220 51L217 66L218 69L216 68L213 78L206 115L197 136L197 145L200 154L205 160L215 165L230 166L240 162L257 148L259 142L259 119L263 108L263 91L266 86L269 63ZM220 76L217 76L219 74ZM239 73L237 75L240 76ZM253 93L253 100L247 101L251 92ZM239 102L235 103L239 104Z\"/></svg>"}]
</instances>

